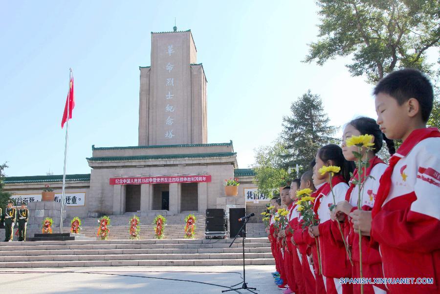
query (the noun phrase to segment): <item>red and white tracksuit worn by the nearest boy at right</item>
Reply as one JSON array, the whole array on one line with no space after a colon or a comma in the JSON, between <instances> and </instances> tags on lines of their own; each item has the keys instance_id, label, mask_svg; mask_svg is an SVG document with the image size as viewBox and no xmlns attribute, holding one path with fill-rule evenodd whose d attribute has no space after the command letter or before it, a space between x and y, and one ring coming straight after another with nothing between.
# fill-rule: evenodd
<instances>
[{"instance_id":1,"label":"red and white tracksuit worn by the nearest boy at right","mask_svg":"<svg viewBox=\"0 0 440 294\"><path fill-rule=\"evenodd\" d=\"M380 179L371 236L385 278L432 278L433 284L387 284L391 293L440 293L440 133L413 131Z\"/></svg>"}]
</instances>

